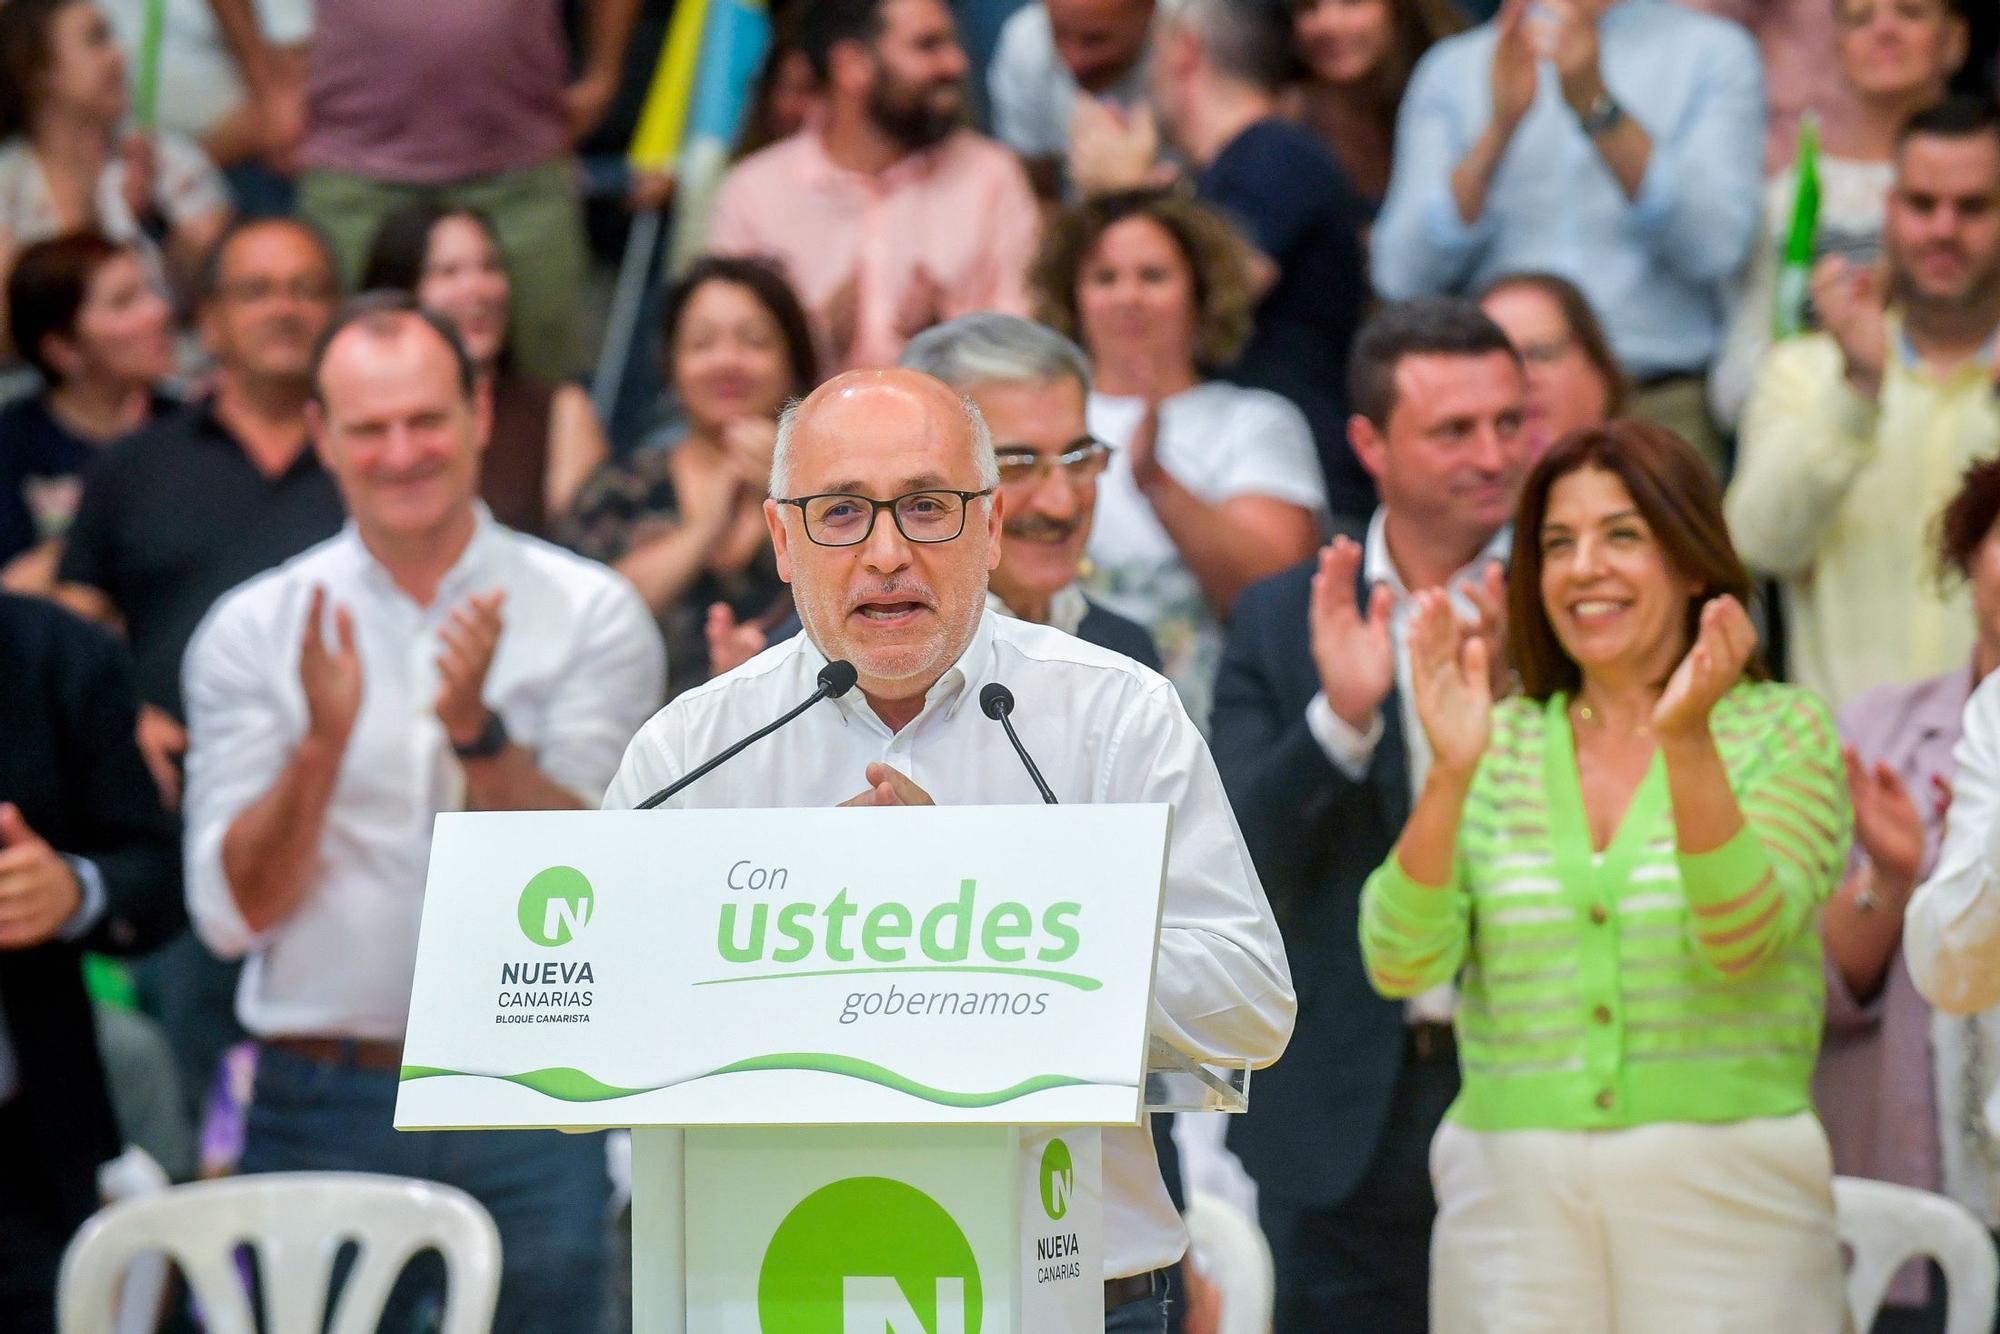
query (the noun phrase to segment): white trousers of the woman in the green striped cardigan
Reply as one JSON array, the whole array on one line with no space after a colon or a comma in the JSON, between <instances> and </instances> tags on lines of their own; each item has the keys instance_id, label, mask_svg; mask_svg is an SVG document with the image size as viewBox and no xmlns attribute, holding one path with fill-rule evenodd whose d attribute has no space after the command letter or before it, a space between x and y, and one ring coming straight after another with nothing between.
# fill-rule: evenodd
<instances>
[{"instance_id":1,"label":"white trousers of the woman in the green striped cardigan","mask_svg":"<svg viewBox=\"0 0 2000 1334\"><path fill-rule=\"evenodd\" d=\"M1836 1334L1834 1168L1810 1112L1462 1130L1430 1146L1434 1334Z\"/></svg>"}]
</instances>

